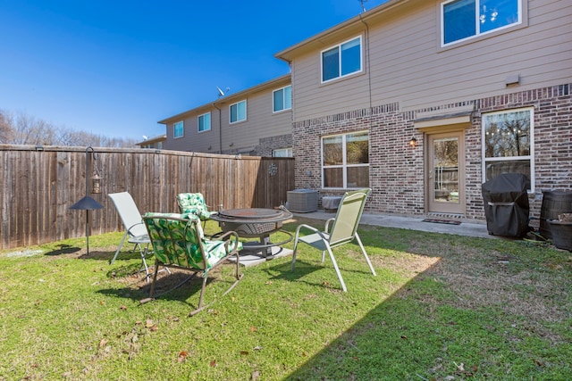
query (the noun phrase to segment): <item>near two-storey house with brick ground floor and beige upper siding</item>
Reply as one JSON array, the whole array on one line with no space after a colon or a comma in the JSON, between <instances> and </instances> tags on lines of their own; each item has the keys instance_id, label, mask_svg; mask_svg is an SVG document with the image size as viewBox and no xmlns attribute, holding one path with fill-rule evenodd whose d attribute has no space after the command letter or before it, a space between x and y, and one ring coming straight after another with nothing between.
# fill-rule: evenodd
<instances>
[{"instance_id":1,"label":"near two-storey house with brick ground floor and beige upper siding","mask_svg":"<svg viewBox=\"0 0 572 381\"><path fill-rule=\"evenodd\" d=\"M502 172L530 179L533 217L543 191L572 190L572 4L481 3L390 0L275 54L296 184L462 219L484 219L481 185Z\"/></svg>"}]
</instances>

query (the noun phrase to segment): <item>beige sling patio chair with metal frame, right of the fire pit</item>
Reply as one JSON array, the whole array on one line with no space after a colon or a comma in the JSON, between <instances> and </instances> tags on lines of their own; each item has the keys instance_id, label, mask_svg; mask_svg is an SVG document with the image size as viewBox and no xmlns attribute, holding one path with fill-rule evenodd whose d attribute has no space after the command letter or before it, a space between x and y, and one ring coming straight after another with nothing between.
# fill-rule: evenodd
<instances>
[{"instance_id":1,"label":"beige sling patio chair with metal frame, right of the fire pit","mask_svg":"<svg viewBox=\"0 0 572 381\"><path fill-rule=\"evenodd\" d=\"M299 225L296 228L296 236L294 238L294 253L292 253L292 271L296 264L296 252L298 250L299 242L309 244L310 246L322 251L322 262L325 259L325 252L330 254L332 259L333 268L336 270L338 277L340 278L341 288L344 292L347 292L346 284L341 277L340 269L338 268L338 263L333 256L332 248L340 246L341 244L349 244L354 239L359 244L361 252L366 257L367 265L371 269L374 276L375 270L372 266L372 262L369 261L366 249L361 243L361 239L357 234L357 226L359 225L359 220L361 219L361 214L364 211L364 206L366 205L367 195L371 193L371 189L365 188L352 192L347 192L341 198L340 207L336 216L332 219L328 219L325 222L324 231L320 231L316 228L308 226L306 224ZM330 229L330 224L332 228ZM300 236L300 230L304 228L312 232L311 234Z\"/></svg>"}]
</instances>

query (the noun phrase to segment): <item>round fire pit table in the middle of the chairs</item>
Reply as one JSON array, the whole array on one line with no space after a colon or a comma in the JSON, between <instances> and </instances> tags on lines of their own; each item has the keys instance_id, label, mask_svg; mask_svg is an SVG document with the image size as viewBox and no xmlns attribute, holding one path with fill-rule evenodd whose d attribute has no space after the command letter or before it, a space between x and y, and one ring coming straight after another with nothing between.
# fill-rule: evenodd
<instances>
[{"instance_id":1,"label":"round fire pit table in the middle of the chairs","mask_svg":"<svg viewBox=\"0 0 572 381\"><path fill-rule=\"evenodd\" d=\"M279 209L229 209L211 215L211 219L218 222L223 233L235 231L243 238L259 238L259 243L245 243L244 250L262 250L266 259L273 258L272 248L274 246L288 244L292 240L290 232L281 230L282 222L291 218L292 213L283 207ZM270 235L277 231L282 231L282 233L288 235L288 238L278 243L271 242Z\"/></svg>"}]
</instances>

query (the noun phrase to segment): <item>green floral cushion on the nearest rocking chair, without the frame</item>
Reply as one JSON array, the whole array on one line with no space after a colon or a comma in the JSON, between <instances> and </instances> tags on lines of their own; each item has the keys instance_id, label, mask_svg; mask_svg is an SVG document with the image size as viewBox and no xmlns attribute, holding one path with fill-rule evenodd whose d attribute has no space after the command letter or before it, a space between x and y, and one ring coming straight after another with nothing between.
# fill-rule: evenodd
<instances>
[{"instance_id":1,"label":"green floral cushion on the nearest rocking chair, without the frame","mask_svg":"<svg viewBox=\"0 0 572 381\"><path fill-rule=\"evenodd\" d=\"M206 239L200 221L193 213L146 213L143 219L149 230L156 259L164 264L208 270L235 248L242 250L242 243L238 240L229 242L227 253L225 241ZM206 269L200 243L206 253Z\"/></svg>"}]
</instances>

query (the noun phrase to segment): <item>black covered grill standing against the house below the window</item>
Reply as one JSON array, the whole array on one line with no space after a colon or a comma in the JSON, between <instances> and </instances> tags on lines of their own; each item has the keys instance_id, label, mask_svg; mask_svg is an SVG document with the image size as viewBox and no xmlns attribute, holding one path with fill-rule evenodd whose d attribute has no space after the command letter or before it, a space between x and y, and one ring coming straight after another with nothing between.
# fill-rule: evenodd
<instances>
[{"instance_id":1,"label":"black covered grill standing against the house below the window","mask_svg":"<svg viewBox=\"0 0 572 381\"><path fill-rule=\"evenodd\" d=\"M525 236L528 226L529 180L521 173L503 173L482 186L484 217L489 234Z\"/></svg>"}]
</instances>

